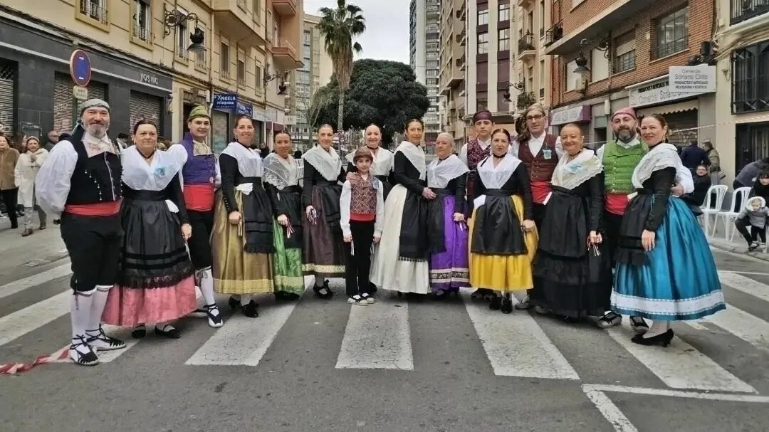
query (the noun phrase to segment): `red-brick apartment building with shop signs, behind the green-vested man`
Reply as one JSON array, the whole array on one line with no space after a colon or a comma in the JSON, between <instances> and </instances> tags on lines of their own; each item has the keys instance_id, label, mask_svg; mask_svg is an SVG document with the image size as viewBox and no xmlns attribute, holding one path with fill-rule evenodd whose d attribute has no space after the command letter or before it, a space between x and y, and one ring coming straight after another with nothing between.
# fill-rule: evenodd
<instances>
[{"instance_id":1,"label":"red-brick apartment building with shop signs, behind the green-vested man","mask_svg":"<svg viewBox=\"0 0 769 432\"><path fill-rule=\"evenodd\" d=\"M545 33L554 56L551 125L576 122L598 147L612 138L611 112L631 106L664 115L675 144L712 139L715 128L698 125L716 124L715 93L671 91L668 71L703 63L714 14L710 0L554 0Z\"/></svg>"}]
</instances>

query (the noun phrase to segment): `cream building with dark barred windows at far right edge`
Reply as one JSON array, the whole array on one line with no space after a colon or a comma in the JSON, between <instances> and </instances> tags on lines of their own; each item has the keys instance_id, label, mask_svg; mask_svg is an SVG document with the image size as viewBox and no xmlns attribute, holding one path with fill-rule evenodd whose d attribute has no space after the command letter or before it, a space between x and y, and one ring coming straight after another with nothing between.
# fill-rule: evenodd
<instances>
[{"instance_id":1,"label":"cream building with dark barred windows at far right edge","mask_svg":"<svg viewBox=\"0 0 769 432\"><path fill-rule=\"evenodd\" d=\"M717 133L726 184L746 164L769 157L769 1L718 0Z\"/></svg>"}]
</instances>

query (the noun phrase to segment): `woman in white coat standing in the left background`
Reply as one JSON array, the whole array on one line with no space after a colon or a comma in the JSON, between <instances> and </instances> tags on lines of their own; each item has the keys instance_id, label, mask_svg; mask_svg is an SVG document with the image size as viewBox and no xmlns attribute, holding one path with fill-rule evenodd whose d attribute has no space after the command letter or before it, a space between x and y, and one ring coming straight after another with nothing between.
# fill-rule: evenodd
<instances>
[{"instance_id":1,"label":"woman in white coat standing in the left background","mask_svg":"<svg viewBox=\"0 0 769 432\"><path fill-rule=\"evenodd\" d=\"M37 209L40 225L38 229L45 229L45 211L35 201L35 178L40 171L48 151L40 148L40 141L36 137L27 138L27 151L18 156L15 168L15 182L18 186L18 204L24 207L24 232L22 237L32 234L32 212Z\"/></svg>"}]
</instances>

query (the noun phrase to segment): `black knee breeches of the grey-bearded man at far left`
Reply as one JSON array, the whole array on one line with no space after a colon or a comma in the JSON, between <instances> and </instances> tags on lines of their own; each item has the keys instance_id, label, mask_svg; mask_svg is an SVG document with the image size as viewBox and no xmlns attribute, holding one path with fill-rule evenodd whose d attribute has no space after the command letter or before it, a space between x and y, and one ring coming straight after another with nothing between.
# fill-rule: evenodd
<instances>
[{"instance_id":1,"label":"black knee breeches of the grey-bearded man at far left","mask_svg":"<svg viewBox=\"0 0 769 432\"><path fill-rule=\"evenodd\" d=\"M62 240L72 262L72 289L92 291L118 281L123 243L120 213L114 216L62 214Z\"/></svg>"}]
</instances>

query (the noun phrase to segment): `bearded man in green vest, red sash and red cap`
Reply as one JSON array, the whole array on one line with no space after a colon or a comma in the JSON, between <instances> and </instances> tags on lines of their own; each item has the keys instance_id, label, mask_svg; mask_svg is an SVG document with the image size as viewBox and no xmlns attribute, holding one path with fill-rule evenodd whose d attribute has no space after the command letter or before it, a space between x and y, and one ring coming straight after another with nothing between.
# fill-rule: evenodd
<instances>
[{"instance_id":1,"label":"bearded man in green vest, red sash and red cap","mask_svg":"<svg viewBox=\"0 0 769 432\"><path fill-rule=\"evenodd\" d=\"M604 231L604 253L611 257L611 269L614 268L614 251L617 249L619 230L622 224L625 207L628 205L628 195L634 192L633 171L647 154L649 147L638 137L638 118L633 108L621 108L611 116L611 129L614 131L614 141L598 149L598 158L604 163L604 220L601 227ZM679 161L680 162L680 161ZM691 171L679 163L676 167L676 183L672 193L676 196L694 191L694 181ZM611 304L611 291L606 293L604 304ZM649 326L641 317L630 317L631 327L636 333L645 333ZM609 328L622 323L622 316L607 311L596 321L598 327Z\"/></svg>"}]
</instances>

